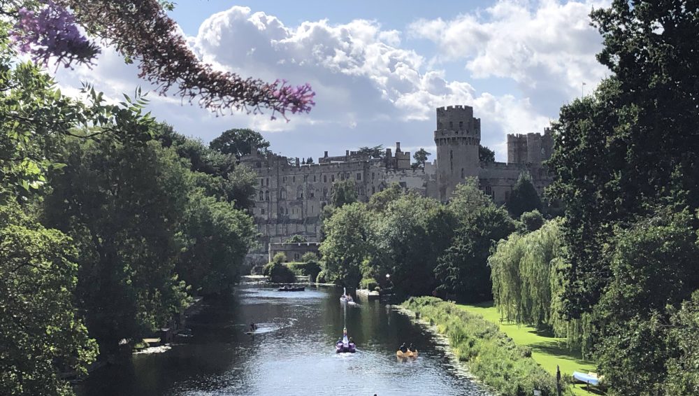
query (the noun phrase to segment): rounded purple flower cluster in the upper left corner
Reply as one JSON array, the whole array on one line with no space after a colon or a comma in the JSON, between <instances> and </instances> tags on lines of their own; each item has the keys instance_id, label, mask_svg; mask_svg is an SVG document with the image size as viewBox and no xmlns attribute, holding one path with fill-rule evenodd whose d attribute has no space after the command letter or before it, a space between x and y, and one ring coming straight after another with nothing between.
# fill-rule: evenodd
<instances>
[{"instance_id":1,"label":"rounded purple flower cluster in the upper left corner","mask_svg":"<svg viewBox=\"0 0 699 396\"><path fill-rule=\"evenodd\" d=\"M31 59L47 66L51 57L56 63L70 67L73 62L92 64L99 47L80 34L75 18L51 0L38 13L21 8L11 36L18 50L31 54Z\"/></svg>"}]
</instances>

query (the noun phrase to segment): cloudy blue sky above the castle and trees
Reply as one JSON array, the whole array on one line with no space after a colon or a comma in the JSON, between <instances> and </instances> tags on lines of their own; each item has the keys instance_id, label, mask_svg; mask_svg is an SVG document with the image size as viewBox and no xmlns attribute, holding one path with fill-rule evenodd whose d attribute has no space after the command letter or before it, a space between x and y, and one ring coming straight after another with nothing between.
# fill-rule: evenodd
<instances>
[{"instance_id":1,"label":"cloudy blue sky above the castle and trees","mask_svg":"<svg viewBox=\"0 0 699 396\"><path fill-rule=\"evenodd\" d=\"M588 16L608 3L180 0L170 15L203 62L310 83L316 106L289 122L268 113L216 117L154 92L148 107L205 143L226 129L252 128L276 153L317 158L396 141L404 151L435 153L435 108L467 105L481 119L481 143L504 162L507 134L542 132L563 104L609 74L596 61L602 38ZM152 89L110 48L97 66L60 70L57 80L64 92L94 83L115 100Z\"/></svg>"}]
</instances>

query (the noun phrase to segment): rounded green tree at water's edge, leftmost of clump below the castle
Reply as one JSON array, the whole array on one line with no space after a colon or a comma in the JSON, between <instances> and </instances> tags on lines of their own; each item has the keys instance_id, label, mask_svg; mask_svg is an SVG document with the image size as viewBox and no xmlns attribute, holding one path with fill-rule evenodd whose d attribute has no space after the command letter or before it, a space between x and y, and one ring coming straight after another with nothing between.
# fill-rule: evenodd
<instances>
[{"instance_id":1,"label":"rounded green tree at water's edge, leftmost of clump below the castle","mask_svg":"<svg viewBox=\"0 0 699 396\"><path fill-rule=\"evenodd\" d=\"M320 253L324 257L326 281L356 287L361 279L361 264L374 254L370 212L364 204L347 204L324 221L324 230Z\"/></svg>"}]
</instances>

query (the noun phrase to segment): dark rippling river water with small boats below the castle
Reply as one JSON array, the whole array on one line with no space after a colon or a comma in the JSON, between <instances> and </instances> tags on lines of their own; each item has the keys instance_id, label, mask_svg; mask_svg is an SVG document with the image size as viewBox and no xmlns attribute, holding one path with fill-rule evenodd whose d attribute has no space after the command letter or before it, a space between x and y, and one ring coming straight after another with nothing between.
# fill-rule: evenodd
<instances>
[{"instance_id":1,"label":"dark rippling river water with small boats below the castle","mask_svg":"<svg viewBox=\"0 0 699 396\"><path fill-rule=\"evenodd\" d=\"M241 286L188 320L192 337L90 374L81 396L488 395L424 327L384 302L343 306L342 290ZM258 334L245 334L250 322ZM336 354L343 326L357 352ZM419 358L401 361L403 342Z\"/></svg>"}]
</instances>

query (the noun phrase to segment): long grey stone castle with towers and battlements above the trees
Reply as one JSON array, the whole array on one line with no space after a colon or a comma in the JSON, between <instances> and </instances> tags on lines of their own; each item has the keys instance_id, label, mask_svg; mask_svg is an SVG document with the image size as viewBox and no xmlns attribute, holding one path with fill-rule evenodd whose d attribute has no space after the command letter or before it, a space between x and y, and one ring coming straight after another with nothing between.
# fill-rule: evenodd
<instances>
[{"instance_id":1,"label":"long grey stone castle with towers and battlements above the trees","mask_svg":"<svg viewBox=\"0 0 699 396\"><path fill-rule=\"evenodd\" d=\"M290 160L273 153L263 156L252 150L240 163L257 173L253 215L261 237L259 248L251 250L247 260L255 264L267 262L269 243L280 243L296 234L310 242L317 241L320 214L336 181L352 179L359 201L364 202L391 183L447 201L457 184L475 176L480 189L498 204L510 198L522 171L531 174L540 194L551 182L542 165L551 157L553 148L549 128L544 134L508 134L506 163L480 162L480 137L480 118L473 117L472 107L448 106L437 108L436 160L426 162L421 169L411 167L410 152L401 150L400 142L396 142L395 153L387 148L382 157L349 150L345 155L329 157L326 151L318 164L302 164L298 158Z\"/></svg>"}]
</instances>

